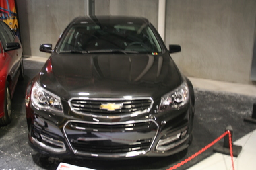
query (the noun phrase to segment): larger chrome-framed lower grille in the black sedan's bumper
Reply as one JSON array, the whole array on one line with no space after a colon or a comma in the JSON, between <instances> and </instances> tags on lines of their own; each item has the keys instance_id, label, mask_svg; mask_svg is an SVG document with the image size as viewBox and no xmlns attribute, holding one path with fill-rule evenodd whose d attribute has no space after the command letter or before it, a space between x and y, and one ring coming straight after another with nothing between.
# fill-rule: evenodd
<instances>
[{"instance_id":1,"label":"larger chrome-framed lower grille in the black sedan's bumper","mask_svg":"<svg viewBox=\"0 0 256 170\"><path fill-rule=\"evenodd\" d=\"M125 155L149 151L158 125L154 120L118 123L71 120L65 124L64 132L74 153L78 155Z\"/></svg>"}]
</instances>

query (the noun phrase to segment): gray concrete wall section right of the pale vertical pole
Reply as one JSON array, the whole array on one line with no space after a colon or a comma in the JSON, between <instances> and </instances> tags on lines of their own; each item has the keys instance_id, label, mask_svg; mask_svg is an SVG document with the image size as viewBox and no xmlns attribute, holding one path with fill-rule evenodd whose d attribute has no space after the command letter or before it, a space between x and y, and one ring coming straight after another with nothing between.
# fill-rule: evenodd
<instances>
[{"instance_id":1,"label":"gray concrete wall section right of the pale vertical pole","mask_svg":"<svg viewBox=\"0 0 256 170\"><path fill-rule=\"evenodd\" d=\"M185 75L250 83L255 0L166 1L166 44Z\"/></svg>"}]
</instances>

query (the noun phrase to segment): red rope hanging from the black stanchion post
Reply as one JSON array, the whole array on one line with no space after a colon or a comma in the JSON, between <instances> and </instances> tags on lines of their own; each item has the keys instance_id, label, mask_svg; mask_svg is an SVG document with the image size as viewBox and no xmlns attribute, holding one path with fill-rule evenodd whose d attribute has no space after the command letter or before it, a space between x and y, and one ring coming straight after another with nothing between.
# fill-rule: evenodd
<instances>
[{"instance_id":1,"label":"red rope hanging from the black stanchion post","mask_svg":"<svg viewBox=\"0 0 256 170\"><path fill-rule=\"evenodd\" d=\"M191 155L190 157L188 157L187 159L185 159L184 161L181 161L180 163L178 163L177 165L174 165L173 167L170 167L167 170L174 170L177 169L178 167L181 167L181 165L184 165L185 163L187 163L188 161L191 161L191 159L194 159L195 157L197 157L199 154L203 153L204 151L206 151L208 148L212 147L214 144L216 144L216 142L218 142L219 140L221 140L222 138L224 138L224 136L226 136L228 134L229 136L229 147L230 147L230 156L231 156L231 161L232 161L232 167L234 170L234 161L233 161L233 151L232 151L232 139L231 139L231 133L229 130L227 130L226 132L224 132L224 134L220 135L218 138L216 138L216 140L214 140L213 142L211 142L210 144L208 144L207 146L205 146L204 148L202 148L201 150L197 151L197 153L194 153L193 155Z\"/></svg>"}]
</instances>

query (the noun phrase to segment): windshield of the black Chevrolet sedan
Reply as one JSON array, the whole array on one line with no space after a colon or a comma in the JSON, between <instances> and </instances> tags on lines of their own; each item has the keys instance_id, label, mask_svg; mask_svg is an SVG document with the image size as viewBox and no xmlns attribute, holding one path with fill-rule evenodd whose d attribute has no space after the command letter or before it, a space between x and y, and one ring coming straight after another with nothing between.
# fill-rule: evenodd
<instances>
[{"instance_id":1,"label":"windshield of the black Chevrolet sedan","mask_svg":"<svg viewBox=\"0 0 256 170\"><path fill-rule=\"evenodd\" d=\"M74 24L57 52L161 52L148 24Z\"/></svg>"}]
</instances>

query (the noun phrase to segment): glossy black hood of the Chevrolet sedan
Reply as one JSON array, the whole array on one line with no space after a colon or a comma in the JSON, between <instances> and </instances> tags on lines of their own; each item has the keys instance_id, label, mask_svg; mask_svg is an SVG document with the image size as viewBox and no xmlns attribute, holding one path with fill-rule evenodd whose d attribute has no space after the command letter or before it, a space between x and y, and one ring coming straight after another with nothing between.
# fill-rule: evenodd
<instances>
[{"instance_id":1,"label":"glossy black hood of the Chevrolet sedan","mask_svg":"<svg viewBox=\"0 0 256 170\"><path fill-rule=\"evenodd\" d=\"M168 54L53 54L40 84L63 97L157 98L181 84Z\"/></svg>"}]
</instances>

